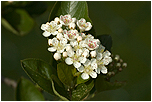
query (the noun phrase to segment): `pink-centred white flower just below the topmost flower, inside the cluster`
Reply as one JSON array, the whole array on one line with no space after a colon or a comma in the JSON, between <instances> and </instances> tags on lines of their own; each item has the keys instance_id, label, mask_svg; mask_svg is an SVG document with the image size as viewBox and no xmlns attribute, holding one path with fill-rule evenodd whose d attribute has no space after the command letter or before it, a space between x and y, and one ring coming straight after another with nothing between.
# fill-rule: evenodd
<instances>
[{"instance_id":1,"label":"pink-centred white flower just below the topmost flower, inside the cluster","mask_svg":"<svg viewBox=\"0 0 152 102\"><path fill-rule=\"evenodd\" d=\"M79 36L77 30L69 30L69 31L64 30L63 34L64 34L64 37L68 40L74 40Z\"/></svg>"}]
</instances>

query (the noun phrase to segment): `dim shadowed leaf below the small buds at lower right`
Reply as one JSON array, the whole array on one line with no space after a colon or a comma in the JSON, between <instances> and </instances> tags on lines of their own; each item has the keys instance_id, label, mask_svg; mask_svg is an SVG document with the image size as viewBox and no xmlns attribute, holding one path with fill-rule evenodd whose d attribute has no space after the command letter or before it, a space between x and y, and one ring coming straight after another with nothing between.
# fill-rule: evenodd
<instances>
[{"instance_id":1,"label":"dim shadowed leaf below the small buds at lower right","mask_svg":"<svg viewBox=\"0 0 152 102\"><path fill-rule=\"evenodd\" d=\"M103 76L98 76L95 82L95 88L97 92L102 92L106 90L115 90L124 86L126 82L108 82Z\"/></svg>"}]
</instances>

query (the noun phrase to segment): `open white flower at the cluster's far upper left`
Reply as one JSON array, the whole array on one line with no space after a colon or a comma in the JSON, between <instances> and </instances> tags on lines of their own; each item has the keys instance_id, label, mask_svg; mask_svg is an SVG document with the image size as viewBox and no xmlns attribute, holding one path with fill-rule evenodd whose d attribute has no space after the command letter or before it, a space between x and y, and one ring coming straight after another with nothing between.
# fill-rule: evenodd
<instances>
[{"instance_id":1,"label":"open white flower at the cluster's far upper left","mask_svg":"<svg viewBox=\"0 0 152 102\"><path fill-rule=\"evenodd\" d=\"M51 34L56 35L58 33L58 29L62 25L58 25L55 21L47 22L46 24L42 24L41 29L44 30L43 36L49 37Z\"/></svg>"}]
</instances>

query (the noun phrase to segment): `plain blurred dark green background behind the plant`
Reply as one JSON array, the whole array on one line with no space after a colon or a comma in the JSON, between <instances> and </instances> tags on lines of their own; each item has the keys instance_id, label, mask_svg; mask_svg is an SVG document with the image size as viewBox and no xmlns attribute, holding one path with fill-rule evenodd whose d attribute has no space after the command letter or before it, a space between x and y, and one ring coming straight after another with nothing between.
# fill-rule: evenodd
<instances>
[{"instance_id":1,"label":"plain blurred dark green background behind the plant","mask_svg":"<svg viewBox=\"0 0 152 102\"><path fill-rule=\"evenodd\" d=\"M1 75L18 80L28 78L20 66L25 58L50 61L47 39L40 26L48 19L55 2L45 2L47 10L33 16L35 25L24 36L17 36L1 26ZM40 10L42 6L39 6ZM109 34L113 39L112 53L119 54L128 67L113 78L127 81L121 89L104 91L92 100L146 101L151 100L151 2L96 1L88 2L89 17L96 33ZM12 19L13 20L13 19ZM1 100L15 100L15 91L1 83ZM48 97L48 95L47 95ZM50 97L51 100L52 97ZM52 99L53 100L53 99Z\"/></svg>"}]
</instances>

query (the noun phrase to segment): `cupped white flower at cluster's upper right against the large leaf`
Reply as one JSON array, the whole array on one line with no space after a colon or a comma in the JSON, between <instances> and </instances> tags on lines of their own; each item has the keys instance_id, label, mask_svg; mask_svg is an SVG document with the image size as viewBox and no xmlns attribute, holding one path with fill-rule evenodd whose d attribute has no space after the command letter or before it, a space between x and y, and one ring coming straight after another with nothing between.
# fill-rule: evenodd
<instances>
[{"instance_id":1,"label":"cupped white flower at cluster's upper right against the large leaf","mask_svg":"<svg viewBox=\"0 0 152 102\"><path fill-rule=\"evenodd\" d=\"M77 21L77 25L81 31L89 31L92 28L90 22L86 22L84 18L81 18Z\"/></svg>"}]
</instances>

